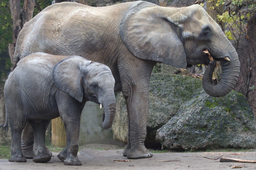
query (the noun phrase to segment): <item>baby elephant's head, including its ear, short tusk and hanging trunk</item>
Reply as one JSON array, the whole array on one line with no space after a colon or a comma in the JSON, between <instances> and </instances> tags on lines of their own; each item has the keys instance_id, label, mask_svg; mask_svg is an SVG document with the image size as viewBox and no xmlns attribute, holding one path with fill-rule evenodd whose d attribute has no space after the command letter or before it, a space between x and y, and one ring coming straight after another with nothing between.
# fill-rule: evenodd
<instances>
[{"instance_id":1,"label":"baby elephant's head, including its ear, short tusk and hanging trunk","mask_svg":"<svg viewBox=\"0 0 256 170\"><path fill-rule=\"evenodd\" d=\"M92 101L104 107L102 127L111 127L116 112L115 79L109 67L79 56L67 57L53 69L55 85L77 101Z\"/></svg>"}]
</instances>

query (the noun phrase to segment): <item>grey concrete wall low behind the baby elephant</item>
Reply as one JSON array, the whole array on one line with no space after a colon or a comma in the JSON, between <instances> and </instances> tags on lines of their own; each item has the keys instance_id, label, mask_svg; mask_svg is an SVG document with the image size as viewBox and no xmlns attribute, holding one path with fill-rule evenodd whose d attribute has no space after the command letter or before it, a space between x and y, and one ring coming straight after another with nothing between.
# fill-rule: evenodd
<instances>
[{"instance_id":1,"label":"grey concrete wall low behind the baby elephant","mask_svg":"<svg viewBox=\"0 0 256 170\"><path fill-rule=\"evenodd\" d=\"M0 81L0 124L5 122L5 106L4 106L4 83ZM101 117L103 109L93 102L87 102L82 110L79 145L99 143L99 144L114 144L123 145L119 141L113 139L112 128L104 130L101 127ZM46 144L50 144L51 126L49 125L46 131ZM0 129L0 145L11 145L11 129L8 133Z\"/></svg>"}]
</instances>

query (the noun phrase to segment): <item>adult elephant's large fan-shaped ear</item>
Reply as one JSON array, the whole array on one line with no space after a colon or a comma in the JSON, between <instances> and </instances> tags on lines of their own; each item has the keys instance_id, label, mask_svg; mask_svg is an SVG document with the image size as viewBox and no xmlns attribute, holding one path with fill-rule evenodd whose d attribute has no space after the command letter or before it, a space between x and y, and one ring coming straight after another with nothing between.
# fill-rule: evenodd
<instances>
[{"instance_id":1,"label":"adult elephant's large fan-shaped ear","mask_svg":"<svg viewBox=\"0 0 256 170\"><path fill-rule=\"evenodd\" d=\"M186 67L182 23L187 17L180 9L148 2L134 6L120 24L123 42L138 58Z\"/></svg>"}]
</instances>

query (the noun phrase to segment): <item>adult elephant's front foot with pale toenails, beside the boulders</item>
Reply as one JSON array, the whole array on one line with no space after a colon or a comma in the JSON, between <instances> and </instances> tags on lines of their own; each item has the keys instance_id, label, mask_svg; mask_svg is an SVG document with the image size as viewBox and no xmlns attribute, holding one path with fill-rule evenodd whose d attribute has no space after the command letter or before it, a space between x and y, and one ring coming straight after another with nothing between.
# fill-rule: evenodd
<instances>
[{"instance_id":1,"label":"adult elephant's front foot with pale toenails, beside the boulders","mask_svg":"<svg viewBox=\"0 0 256 170\"><path fill-rule=\"evenodd\" d=\"M141 159L141 158L151 158L153 154L144 148L143 150L139 149L130 149L126 154L128 159Z\"/></svg>"}]
</instances>

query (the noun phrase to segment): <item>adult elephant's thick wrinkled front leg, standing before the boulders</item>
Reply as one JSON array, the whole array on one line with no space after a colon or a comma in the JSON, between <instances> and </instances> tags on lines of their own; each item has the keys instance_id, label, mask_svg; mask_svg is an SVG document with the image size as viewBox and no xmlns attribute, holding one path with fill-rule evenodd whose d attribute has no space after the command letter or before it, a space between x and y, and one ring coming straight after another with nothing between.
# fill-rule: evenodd
<instances>
[{"instance_id":1,"label":"adult elephant's thick wrinkled front leg, standing before the boulders","mask_svg":"<svg viewBox=\"0 0 256 170\"><path fill-rule=\"evenodd\" d=\"M136 60L129 63L129 70L123 71L120 67L123 94L128 112L128 145L123 155L128 159L151 158L153 154L146 149L147 115L149 103L149 79L153 63L145 60ZM126 65L127 66L127 65Z\"/></svg>"}]
</instances>

